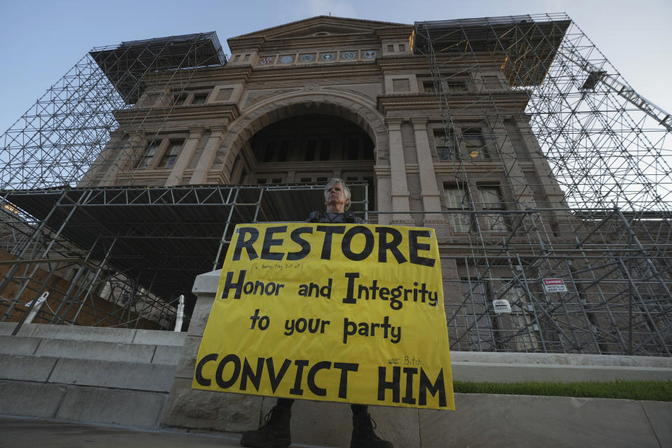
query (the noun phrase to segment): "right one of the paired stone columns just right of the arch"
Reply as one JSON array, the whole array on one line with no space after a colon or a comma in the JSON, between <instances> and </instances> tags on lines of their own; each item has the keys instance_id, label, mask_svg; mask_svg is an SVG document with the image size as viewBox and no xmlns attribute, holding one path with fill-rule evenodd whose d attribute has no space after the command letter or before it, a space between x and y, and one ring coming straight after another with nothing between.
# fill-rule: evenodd
<instances>
[{"instance_id":1,"label":"right one of the paired stone columns just right of the arch","mask_svg":"<svg viewBox=\"0 0 672 448\"><path fill-rule=\"evenodd\" d=\"M411 118L411 123L413 123L415 149L418 155L422 207L426 212L441 211L441 194L436 184L432 150L429 145L429 137L427 137L427 119ZM437 232L437 237L447 237L449 235L448 221L444 219L442 214L425 213L423 223L428 227L433 227Z\"/></svg>"}]
</instances>

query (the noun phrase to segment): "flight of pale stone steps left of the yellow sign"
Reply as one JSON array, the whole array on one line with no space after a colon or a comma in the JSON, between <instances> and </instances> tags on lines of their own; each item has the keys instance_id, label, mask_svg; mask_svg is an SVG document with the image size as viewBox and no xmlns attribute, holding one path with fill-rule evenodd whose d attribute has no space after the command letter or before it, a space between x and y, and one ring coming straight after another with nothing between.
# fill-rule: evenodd
<instances>
[{"instance_id":1,"label":"flight of pale stone steps left of the yellow sign","mask_svg":"<svg viewBox=\"0 0 672 448\"><path fill-rule=\"evenodd\" d=\"M158 428L185 333L0 323L0 414Z\"/></svg>"}]
</instances>

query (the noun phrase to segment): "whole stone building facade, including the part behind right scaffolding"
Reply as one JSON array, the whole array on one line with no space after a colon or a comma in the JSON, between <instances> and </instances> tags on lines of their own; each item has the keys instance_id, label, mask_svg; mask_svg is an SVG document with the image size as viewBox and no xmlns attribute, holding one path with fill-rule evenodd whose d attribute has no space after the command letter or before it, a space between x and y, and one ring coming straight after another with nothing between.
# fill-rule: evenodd
<instances>
[{"instance_id":1,"label":"whole stone building facade, including the part behind right scaffolding","mask_svg":"<svg viewBox=\"0 0 672 448\"><path fill-rule=\"evenodd\" d=\"M648 311L607 309L629 280L594 264L630 234L567 207L526 115L570 22L502 20L439 22L470 41L433 54L414 25L327 16L229 38L227 64L146 76L80 186L365 183L370 223L435 229L453 349L619 353L632 325L646 346Z\"/></svg>"}]
</instances>

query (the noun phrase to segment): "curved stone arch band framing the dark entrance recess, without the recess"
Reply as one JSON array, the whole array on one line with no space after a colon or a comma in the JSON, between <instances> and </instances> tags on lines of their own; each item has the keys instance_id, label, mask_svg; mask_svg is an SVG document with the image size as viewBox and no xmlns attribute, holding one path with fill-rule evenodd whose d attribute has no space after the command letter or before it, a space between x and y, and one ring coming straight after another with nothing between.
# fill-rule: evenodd
<instances>
[{"instance_id":1,"label":"curved stone arch band framing the dark entrance recess, without the recess","mask_svg":"<svg viewBox=\"0 0 672 448\"><path fill-rule=\"evenodd\" d=\"M388 159L388 134L384 117L367 102L335 90L292 92L253 105L232 123L219 150L221 171L228 176L241 148L264 127L304 113L323 113L344 118L361 127L374 144L375 163Z\"/></svg>"}]
</instances>

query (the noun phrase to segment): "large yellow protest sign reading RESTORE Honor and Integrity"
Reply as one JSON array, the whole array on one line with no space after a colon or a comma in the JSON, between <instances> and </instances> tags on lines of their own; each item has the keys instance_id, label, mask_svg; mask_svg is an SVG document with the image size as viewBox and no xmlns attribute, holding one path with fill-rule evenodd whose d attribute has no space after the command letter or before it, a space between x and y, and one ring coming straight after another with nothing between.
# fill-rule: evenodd
<instances>
[{"instance_id":1,"label":"large yellow protest sign reading RESTORE Honor and Integrity","mask_svg":"<svg viewBox=\"0 0 672 448\"><path fill-rule=\"evenodd\" d=\"M433 230L238 225L192 387L455 409Z\"/></svg>"}]
</instances>

